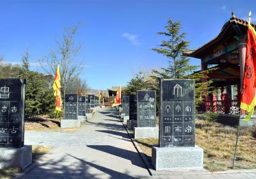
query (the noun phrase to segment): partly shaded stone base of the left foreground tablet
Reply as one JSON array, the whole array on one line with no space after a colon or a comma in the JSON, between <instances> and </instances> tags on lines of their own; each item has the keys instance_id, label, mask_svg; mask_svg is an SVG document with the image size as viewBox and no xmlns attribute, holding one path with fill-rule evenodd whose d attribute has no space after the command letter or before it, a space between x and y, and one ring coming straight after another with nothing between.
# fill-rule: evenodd
<instances>
[{"instance_id":1,"label":"partly shaded stone base of the left foreground tablet","mask_svg":"<svg viewBox=\"0 0 256 179\"><path fill-rule=\"evenodd\" d=\"M25 169L32 163L32 146L22 148L0 148L0 169L20 167Z\"/></svg>"}]
</instances>

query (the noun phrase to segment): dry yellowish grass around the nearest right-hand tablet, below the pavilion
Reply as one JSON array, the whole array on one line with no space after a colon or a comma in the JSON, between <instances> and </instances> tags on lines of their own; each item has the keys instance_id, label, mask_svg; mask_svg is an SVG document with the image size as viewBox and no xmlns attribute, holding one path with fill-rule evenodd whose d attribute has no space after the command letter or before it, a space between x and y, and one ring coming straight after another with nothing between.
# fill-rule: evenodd
<instances>
[{"instance_id":1,"label":"dry yellowish grass around the nearest right-hand tablet, below the pavilion","mask_svg":"<svg viewBox=\"0 0 256 179\"><path fill-rule=\"evenodd\" d=\"M209 171L231 169L236 132L237 128L225 126L216 121L196 120L196 144L204 148L205 169ZM256 127L241 128L235 169L256 168L255 134ZM151 147L158 144L158 139L137 139L136 141L148 160L151 160Z\"/></svg>"}]
</instances>

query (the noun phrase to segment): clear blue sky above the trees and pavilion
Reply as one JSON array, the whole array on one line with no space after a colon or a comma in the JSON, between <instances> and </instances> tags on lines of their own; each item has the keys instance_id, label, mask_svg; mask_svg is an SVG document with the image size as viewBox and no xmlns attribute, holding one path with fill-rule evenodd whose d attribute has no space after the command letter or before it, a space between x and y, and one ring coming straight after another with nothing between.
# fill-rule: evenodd
<instances>
[{"instance_id":1,"label":"clear blue sky above the trees and pavilion","mask_svg":"<svg viewBox=\"0 0 256 179\"><path fill-rule=\"evenodd\" d=\"M5 61L20 63L29 48L31 68L38 59L56 49L63 28L78 23L76 43L83 43L77 61L83 61L81 78L94 89L106 89L131 79L141 68L167 65L167 58L151 49L164 40L168 18L182 22L190 49L196 49L218 35L231 17L247 19L256 1L0 1L0 55ZM200 65L199 59L191 59ZM37 70L40 70L36 68Z\"/></svg>"}]
</instances>

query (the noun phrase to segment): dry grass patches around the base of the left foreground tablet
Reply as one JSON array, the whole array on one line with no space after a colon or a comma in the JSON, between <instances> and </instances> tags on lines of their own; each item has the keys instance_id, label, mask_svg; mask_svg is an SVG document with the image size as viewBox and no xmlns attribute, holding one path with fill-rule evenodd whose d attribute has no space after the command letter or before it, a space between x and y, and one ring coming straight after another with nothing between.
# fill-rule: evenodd
<instances>
[{"instance_id":1,"label":"dry grass patches around the base of the left foreground tablet","mask_svg":"<svg viewBox=\"0 0 256 179\"><path fill-rule=\"evenodd\" d=\"M42 155L51 150L51 146L32 146L32 162L40 159ZM12 167L8 169L0 169L0 179L11 179L22 170L19 167Z\"/></svg>"}]
</instances>

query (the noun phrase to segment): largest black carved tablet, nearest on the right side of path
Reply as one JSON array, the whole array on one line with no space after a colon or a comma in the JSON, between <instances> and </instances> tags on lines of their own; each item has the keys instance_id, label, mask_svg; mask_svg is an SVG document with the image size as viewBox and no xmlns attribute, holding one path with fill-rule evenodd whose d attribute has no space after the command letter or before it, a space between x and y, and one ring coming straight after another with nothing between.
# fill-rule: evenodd
<instances>
[{"instance_id":1,"label":"largest black carved tablet, nearest on the right side of path","mask_svg":"<svg viewBox=\"0 0 256 179\"><path fill-rule=\"evenodd\" d=\"M195 146L195 81L161 79L159 146Z\"/></svg>"}]
</instances>

